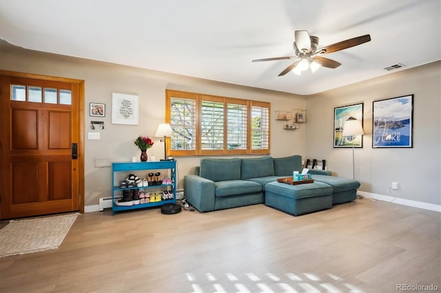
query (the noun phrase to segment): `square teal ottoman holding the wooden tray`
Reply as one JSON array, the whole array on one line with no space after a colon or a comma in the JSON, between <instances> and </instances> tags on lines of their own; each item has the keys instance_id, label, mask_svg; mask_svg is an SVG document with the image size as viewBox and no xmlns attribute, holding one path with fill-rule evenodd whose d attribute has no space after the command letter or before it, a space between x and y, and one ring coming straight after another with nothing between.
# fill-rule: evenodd
<instances>
[{"instance_id":1,"label":"square teal ottoman holding the wooden tray","mask_svg":"<svg viewBox=\"0 0 441 293\"><path fill-rule=\"evenodd\" d=\"M332 187L322 182L265 185L265 204L291 215L303 215L332 208Z\"/></svg>"}]
</instances>

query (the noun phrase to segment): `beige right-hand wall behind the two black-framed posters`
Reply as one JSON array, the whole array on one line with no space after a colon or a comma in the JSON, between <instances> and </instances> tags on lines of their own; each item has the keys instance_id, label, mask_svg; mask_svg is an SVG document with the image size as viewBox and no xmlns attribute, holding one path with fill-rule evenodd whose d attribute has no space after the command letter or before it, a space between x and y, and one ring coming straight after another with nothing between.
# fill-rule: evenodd
<instances>
[{"instance_id":1,"label":"beige right-hand wall behind the two black-framed posters","mask_svg":"<svg viewBox=\"0 0 441 293\"><path fill-rule=\"evenodd\" d=\"M360 191L441 204L441 62L307 97L306 155L352 177L352 149L333 148L334 107L364 102L364 142L355 149ZM413 94L413 148L372 149L372 102ZM392 191L391 182L400 190Z\"/></svg>"}]
</instances>

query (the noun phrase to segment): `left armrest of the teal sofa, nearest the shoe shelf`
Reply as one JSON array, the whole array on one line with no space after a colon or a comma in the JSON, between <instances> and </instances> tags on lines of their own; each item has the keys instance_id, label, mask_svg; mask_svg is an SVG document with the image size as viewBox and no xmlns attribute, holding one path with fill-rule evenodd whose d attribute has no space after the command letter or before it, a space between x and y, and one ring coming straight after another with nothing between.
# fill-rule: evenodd
<instances>
[{"instance_id":1,"label":"left armrest of the teal sofa, nearest the shoe shelf","mask_svg":"<svg viewBox=\"0 0 441 293\"><path fill-rule=\"evenodd\" d=\"M200 212L214 210L214 182L198 175L184 177L184 195L187 202Z\"/></svg>"}]
</instances>

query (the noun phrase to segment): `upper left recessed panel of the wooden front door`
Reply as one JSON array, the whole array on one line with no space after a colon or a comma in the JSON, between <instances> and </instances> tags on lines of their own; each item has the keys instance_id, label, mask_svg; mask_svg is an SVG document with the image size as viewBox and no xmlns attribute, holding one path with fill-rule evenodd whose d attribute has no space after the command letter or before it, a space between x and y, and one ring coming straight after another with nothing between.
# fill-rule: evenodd
<instances>
[{"instance_id":1,"label":"upper left recessed panel of the wooden front door","mask_svg":"<svg viewBox=\"0 0 441 293\"><path fill-rule=\"evenodd\" d=\"M38 111L12 109L12 150L38 149Z\"/></svg>"}]
</instances>

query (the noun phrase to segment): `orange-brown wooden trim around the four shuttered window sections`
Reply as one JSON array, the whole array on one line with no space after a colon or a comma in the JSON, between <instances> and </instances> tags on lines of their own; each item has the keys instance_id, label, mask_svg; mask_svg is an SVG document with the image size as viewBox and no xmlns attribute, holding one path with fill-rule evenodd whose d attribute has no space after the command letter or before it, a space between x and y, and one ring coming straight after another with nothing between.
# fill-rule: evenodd
<instances>
[{"instance_id":1,"label":"orange-brown wooden trim around the four shuttered window sections","mask_svg":"<svg viewBox=\"0 0 441 293\"><path fill-rule=\"evenodd\" d=\"M165 142L167 155L172 155L174 157L184 157L184 156L211 156L211 155L269 155L270 153L270 142L271 142L271 103L261 102L256 100L245 100L239 98L229 98L223 96L213 96L208 94L197 94L187 91L175 91L171 89L165 90L165 122L171 122L171 106L172 98L183 98L189 100L195 100L196 107L196 149L194 150L172 150L171 149L171 138L167 138ZM224 114L224 129L223 129L223 149L218 150L203 150L201 142L201 122L202 122L202 111L201 105L203 100L223 102L223 114ZM237 104L246 105L247 107L247 148L246 149L228 149L227 135L228 135L228 120L227 120L227 105ZM268 110L268 147L267 149L252 149L252 107L263 107Z\"/></svg>"}]
</instances>

